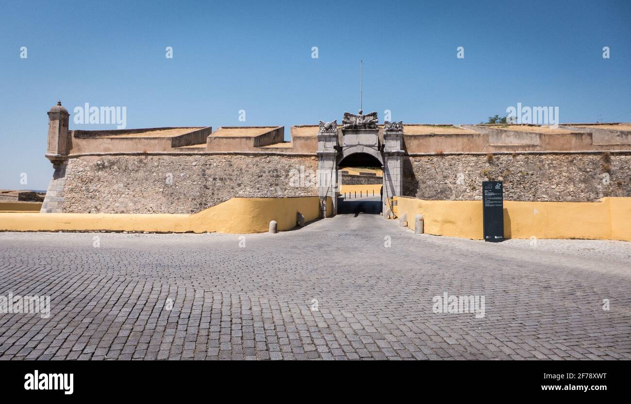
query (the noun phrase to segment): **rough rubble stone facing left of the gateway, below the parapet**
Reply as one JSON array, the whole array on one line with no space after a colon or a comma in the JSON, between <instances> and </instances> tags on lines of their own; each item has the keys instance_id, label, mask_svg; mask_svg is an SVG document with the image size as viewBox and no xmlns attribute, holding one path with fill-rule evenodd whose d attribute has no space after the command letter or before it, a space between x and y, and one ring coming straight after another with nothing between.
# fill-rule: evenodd
<instances>
[{"instance_id":1,"label":"rough rubble stone facing left of the gateway, below the parapet","mask_svg":"<svg viewBox=\"0 0 631 404\"><path fill-rule=\"evenodd\" d=\"M192 213L232 197L311 196L315 184L299 175L316 170L315 157L83 156L67 176L63 211Z\"/></svg>"}]
</instances>

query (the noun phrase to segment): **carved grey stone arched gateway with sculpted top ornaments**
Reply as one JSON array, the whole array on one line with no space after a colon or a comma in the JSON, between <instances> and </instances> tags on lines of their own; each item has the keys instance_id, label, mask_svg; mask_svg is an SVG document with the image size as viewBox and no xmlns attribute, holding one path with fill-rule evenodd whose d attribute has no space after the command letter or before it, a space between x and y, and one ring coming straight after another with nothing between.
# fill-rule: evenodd
<instances>
[{"instance_id":1,"label":"carved grey stone arched gateway with sculpted top ornaments","mask_svg":"<svg viewBox=\"0 0 631 404\"><path fill-rule=\"evenodd\" d=\"M386 121L381 137L377 112L366 115L361 110L358 115L345 112L342 122L343 125L338 128L337 120L320 121L317 134L317 182L323 212L326 213L326 197L333 199L333 214L338 212L339 163L357 153L369 154L383 165L383 211L387 212L391 209L387 199L401 195L403 187L403 122ZM325 216L322 214L322 217Z\"/></svg>"}]
</instances>

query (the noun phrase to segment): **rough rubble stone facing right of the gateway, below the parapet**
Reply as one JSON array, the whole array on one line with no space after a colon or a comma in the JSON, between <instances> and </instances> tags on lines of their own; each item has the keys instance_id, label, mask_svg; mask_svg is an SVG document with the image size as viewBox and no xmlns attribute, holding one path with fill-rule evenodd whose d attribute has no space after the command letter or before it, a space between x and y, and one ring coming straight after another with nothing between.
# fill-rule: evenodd
<instances>
[{"instance_id":1,"label":"rough rubble stone facing right of the gateway, below the parapet","mask_svg":"<svg viewBox=\"0 0 631 404\"><path fill-rule=\"evenodd\" d=\"M404 158L403 195L481 199L482 181L503 180L505 200L596 201L631 196L629 154L495 154Z\"/></svg>"}]
</instances>

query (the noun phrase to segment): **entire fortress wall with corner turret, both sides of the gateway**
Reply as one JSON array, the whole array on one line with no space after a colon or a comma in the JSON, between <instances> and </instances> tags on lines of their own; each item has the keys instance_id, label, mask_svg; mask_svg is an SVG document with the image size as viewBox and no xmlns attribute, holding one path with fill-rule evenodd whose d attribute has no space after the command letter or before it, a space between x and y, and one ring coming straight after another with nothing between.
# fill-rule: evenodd
<instances>
[{"instance_id":1,"label":"entire fortress wall with corner turret, both sides of the gateway","mask_svg":"<svg viewBox=\"0 0 631 404\"><path fill-rule=\"evenodd\" d=\"M314 182L322 125L294 126L284 141L280 126L88 131L69 130L61 103L48 115L46 156L55 171L42 212L188 214L233 197L322 193ZM504 180L506 200L631 196L630 124L401 124L398 130L402 150L393 149L400 155L389 164L401 179L384 168L384 181L399 187L392 196L476 200L490 179ZM331 153L341 150L343 128L325 132ZM384 126L375 133L374 150L383 153ZM348 150L362 154L362 147Z\"/></svg>"}]
</instances>

